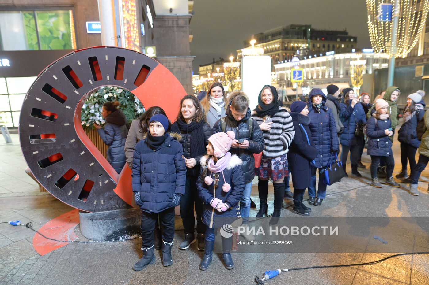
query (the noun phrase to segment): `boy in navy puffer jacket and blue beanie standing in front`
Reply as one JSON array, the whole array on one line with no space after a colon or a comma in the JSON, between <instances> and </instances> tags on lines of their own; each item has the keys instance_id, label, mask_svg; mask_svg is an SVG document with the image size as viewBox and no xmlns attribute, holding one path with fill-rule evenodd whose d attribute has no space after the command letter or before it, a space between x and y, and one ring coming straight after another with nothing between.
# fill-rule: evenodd
<instances>
[{"instance_id":1,"label":"boy in navy puffer jacket and blue beanie standing in front","mask_svg":"<svg viewBox=\"0 0 429 285\"><path fill-rule=\"evenodd\" d=\"M135 146L132 184L134 199L142 210L143 257L134 264L134 270L155 262L154 228L158 214L163 229L162 264L173 264L174 207L185 191L186 166L182 145L166 132L168 127L166 116L152 116L147 137Z\"/></svg>"}]
</instances>

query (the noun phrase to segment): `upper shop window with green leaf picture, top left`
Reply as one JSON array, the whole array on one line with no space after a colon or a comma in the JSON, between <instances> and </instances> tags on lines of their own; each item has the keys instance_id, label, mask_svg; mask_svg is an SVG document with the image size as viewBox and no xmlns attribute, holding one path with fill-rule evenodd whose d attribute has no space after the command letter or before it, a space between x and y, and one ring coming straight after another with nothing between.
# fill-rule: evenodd
<instances>
[{"instance_id":1,"label":"upper shop window with green leaf picture, top left","mask_svg":"<svg viewBox=\"0 0 429 285\"><path fill-rule=\"evenodd\" d=\"M72 10L0 12L0 50L76 49Z\"/></svg>"}]
</instances>

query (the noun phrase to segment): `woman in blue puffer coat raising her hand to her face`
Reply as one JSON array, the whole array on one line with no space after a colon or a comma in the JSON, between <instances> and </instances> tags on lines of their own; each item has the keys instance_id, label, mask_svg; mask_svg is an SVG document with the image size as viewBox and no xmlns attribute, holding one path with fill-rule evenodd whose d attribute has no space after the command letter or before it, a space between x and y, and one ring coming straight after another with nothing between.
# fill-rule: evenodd
<instances>
[{"instance_id":1,"label":"woman in blue puffer coat raising her hand to her face","mask_svg":"<svg viewBox=\"0 0 429 285\"><path fill-rule=\"evenodd\" d=\"M351 88L344 88L344 101L340 104L340 120L344 125L344 131L340 135L341 142L341 162L344 172L346 172L347 157L350 152L351 174L362 177L357 171L357 162L360 160L360 149L363 137L355 135L359 123L366 124L366 114L359 98ZM347 177L347 173L346 173Z\"/></svg>"}]
</instances>

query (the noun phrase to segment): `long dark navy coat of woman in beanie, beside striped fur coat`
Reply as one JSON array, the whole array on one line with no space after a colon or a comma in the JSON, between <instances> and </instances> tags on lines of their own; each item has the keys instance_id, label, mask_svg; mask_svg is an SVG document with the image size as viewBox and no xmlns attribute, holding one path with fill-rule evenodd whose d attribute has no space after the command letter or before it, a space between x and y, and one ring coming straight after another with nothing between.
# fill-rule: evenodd
<instances>
[{"instance_id":1,"label":"long dark navy coat of woman in beanie, beside striped fur coat","mask_svg":"<svg viewBox=\"0 0 429 285\"><path fill-rule=\"evenodd\" d=\"M317 157L318 151L314 147L311 131L308 128L310 118L300 113L290 112L292 117L293 127L295 127L295 137L292 144L289 146L287 153L287 163L290 165L289 171L292 174L293 188L305 189L310 186L311 181L311 166L310 162ZM305 129L305 132L302 130Z\"/></svg>"}]
</instances>

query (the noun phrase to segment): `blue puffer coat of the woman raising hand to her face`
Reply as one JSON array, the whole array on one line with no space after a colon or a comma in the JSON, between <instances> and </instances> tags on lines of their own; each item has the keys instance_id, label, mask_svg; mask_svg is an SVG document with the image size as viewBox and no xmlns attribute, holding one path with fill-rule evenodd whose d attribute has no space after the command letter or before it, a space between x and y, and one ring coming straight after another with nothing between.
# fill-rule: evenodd
<instances>
[{"instance_id":1,"label":"blue puffer coat of the woman raising hand to her face","mask_svg":"<svg viewBox=\"0 0 429 285\"><path fill-rule=\"evenodd\" d=\"M356 131L356 124L366 124L366 116L362 105L358 102L353 108L351 107L351 100L349 100L348 106L342 102L340 104L340 120L344 125L344 131L340 135L341 144L346 146L359 144L354 132ZM361 138L360 140L362 141Z\"/></svg>"}]
</instances>

